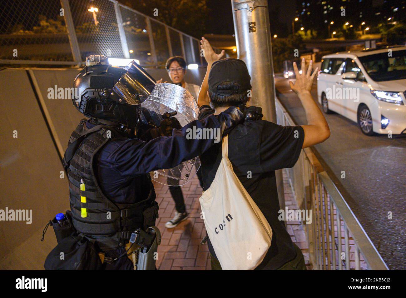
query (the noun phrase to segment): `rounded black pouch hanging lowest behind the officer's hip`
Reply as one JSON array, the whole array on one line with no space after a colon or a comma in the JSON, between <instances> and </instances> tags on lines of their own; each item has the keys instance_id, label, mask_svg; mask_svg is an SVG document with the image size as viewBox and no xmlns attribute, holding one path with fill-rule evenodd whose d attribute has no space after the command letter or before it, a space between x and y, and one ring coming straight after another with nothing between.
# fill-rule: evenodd
<instances>
[{"instance_id":1,"label":"rounded black pouch hanging lowest behind the officer's hip","mask_svg":"<svg viewBox=\"0 0 406 298\"><path fill-rule=\"evenodd\" d=\"M82 235L63 238L48 254L45 270L102 270L95 243Z\"/></svg>"}]
</instances>

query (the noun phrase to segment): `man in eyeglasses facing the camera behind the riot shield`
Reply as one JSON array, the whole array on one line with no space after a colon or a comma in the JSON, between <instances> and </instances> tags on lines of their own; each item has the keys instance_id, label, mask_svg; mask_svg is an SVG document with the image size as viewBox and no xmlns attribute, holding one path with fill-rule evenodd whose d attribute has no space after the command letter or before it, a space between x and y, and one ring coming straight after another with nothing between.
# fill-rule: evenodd
<instances>
[{"instance_id":1,"label":"man in eyeglasses facing the camera behind the riot shield","mask_svg":"<svg viewBox=\"0 0 406 298\"><path fill-rule=\"evenodd\" d=\"M194 99L197 99L197 95L199 94L199 89L200 86L195 85L195 84L188 84L185 82L185 74L186 74L186 61L183 57L181 56L175 56L175 57L170 57L168 60L166 60L166 65L165 65L166 70L168 71L169 77L171 78L171 81L173 84L177 84L183 88L185 88L187 91L192 94ZM162 83L163 79L160 79L157 81L157 83ZM176 116L175 116L176 117ZM187 123L185 122L184 119L178 118L180 124L182 126L185 126ZM197 177L199 178L200 181L200 186L203 188L203 182L201 180L201 171L197 171ZM168 178L168 184L170 185L177 185L179 181L175 179ZM184 197L182 194L182 190L179 186L169 186L169 191L171 192L172 198L175 201L175 216L166 222L165 227L167 228L174 228L176 227L180 222L186 220L188 218L189 214L186 212L186 206L185 206L185 201Z\"/></svg>"}]
</instances>

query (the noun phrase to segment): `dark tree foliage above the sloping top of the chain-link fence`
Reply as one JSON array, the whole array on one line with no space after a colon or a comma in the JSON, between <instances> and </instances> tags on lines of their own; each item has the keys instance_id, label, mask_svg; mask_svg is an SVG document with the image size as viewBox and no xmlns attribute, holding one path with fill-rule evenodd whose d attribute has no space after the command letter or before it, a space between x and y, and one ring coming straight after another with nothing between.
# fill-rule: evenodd
<instances>
[{"instance_id":1,"label":"dark tree foliage above the sloping top of the chain-link fence","mask_svg":"<svg viewBox=\"0 0 406 298\"><path fill-rule=\"evenodd\" d=\"M205 33L206 0L120 0L123 4L191 36Z\"/></svg>"}]
</instances>

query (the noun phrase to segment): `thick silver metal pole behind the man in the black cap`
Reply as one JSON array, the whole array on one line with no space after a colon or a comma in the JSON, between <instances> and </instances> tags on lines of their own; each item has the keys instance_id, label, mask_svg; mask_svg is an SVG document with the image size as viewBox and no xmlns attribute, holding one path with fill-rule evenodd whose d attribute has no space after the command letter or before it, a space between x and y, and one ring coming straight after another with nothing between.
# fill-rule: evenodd
<instances>
[{"instance_id":1,"label":"thick silver metal pole behind the man in the black cap","mask_svg":"<svg viewBox=\"0 0 406 298\"><path fill-rule=\"evenodd\" d=\"M251 75L251 104L262 108L264 120L276 123L275 82L267 0L231 0L238 58ZM282 170L275 172L279 205L285 210Z\"/></svg>"}]
</instances>

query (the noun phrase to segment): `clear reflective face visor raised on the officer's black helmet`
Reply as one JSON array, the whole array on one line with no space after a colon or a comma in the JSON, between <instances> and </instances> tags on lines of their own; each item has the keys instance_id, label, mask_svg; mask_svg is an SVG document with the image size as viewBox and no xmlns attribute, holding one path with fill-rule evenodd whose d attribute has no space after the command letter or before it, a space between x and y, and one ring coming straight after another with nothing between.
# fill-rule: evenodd
<instances>
[{"instance_id":1,"label":"clear reflective face visor raised on the officer's black helmet","mask_svg":"<svg viewBox=\"0 0 406 298\"><path fill-rule=\"evenodd\" d=\"M134 61L124 67L124 69L127 71L114 85L113 91L126 104L141 104L151 94L156 82L147 71Z\"/></svg>"}]
</instances>

